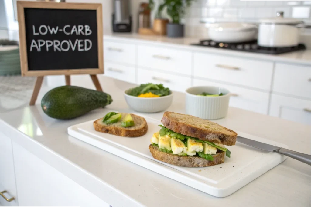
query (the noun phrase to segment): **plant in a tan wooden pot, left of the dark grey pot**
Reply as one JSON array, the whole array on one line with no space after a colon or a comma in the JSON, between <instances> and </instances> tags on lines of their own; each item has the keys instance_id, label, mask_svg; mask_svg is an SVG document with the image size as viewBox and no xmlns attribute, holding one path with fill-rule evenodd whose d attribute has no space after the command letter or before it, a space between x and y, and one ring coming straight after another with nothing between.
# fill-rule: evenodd
<instances>
[{"instance_id":1,"label":"plant in a tan wooden pot, left of the dark grey pot","mask_svg":"<svg viewBox=\"0 0 311 207\"><path fill-rule=\"evenodd\" d=\"M151 10L154 9L155 4L153 0L149 0L149 7ZM158 10L155 14L155 19L153 20L152 30L158 35L166 35L166 25L169 23L169 20L162 17L162 11L165 8L165 3L159 2Z\"/></svg>"}]
</instances>

